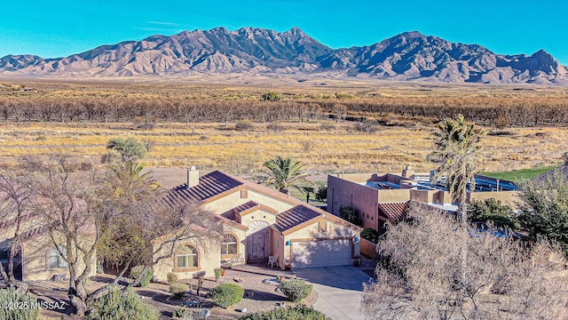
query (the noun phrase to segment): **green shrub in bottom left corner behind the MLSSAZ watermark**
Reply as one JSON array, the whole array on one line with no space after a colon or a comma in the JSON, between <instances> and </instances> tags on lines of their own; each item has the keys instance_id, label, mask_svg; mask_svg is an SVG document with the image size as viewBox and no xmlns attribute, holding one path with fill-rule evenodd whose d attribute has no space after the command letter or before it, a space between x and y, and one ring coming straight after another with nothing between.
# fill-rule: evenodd
<instances>
[{"instance_id":1,"label":"green shrub in bottom left corner behind the MLSSAZ watermark","mask_svg":"<svg viewBox=\"0 0 568 320\"><path fill-rule=\"evenodd\" d=\"M33 320L37 319L39 312L38 308L33 308L37 303L34 296L29 296L24 292L19 292L12 289L0 290L0 302L15 305L23 308L9 308L3 306L0 308L0 319L3 320ZM28 306L26 308L26 306Z\"/></svg>"}]
</instances>

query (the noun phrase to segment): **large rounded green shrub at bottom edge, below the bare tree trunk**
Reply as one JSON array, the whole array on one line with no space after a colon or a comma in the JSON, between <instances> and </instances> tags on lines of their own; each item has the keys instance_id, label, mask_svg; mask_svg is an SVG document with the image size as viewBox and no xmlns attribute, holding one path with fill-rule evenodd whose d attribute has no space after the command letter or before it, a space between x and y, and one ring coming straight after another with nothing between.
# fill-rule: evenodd
<instances>
[{"instance_id":1,"label":"large rounded green shrub at bottom edge, below the bare tree trunk","mask_svg":"<svg viewBox=\"0 0 568 320\"><path fill-rule=\"evenodd\" d=\"M132 288L128 288L126 294L115 288L93 303L88 319L157 320L158 316L160 313L142 302Z\"/></svg>"}]
</instances>

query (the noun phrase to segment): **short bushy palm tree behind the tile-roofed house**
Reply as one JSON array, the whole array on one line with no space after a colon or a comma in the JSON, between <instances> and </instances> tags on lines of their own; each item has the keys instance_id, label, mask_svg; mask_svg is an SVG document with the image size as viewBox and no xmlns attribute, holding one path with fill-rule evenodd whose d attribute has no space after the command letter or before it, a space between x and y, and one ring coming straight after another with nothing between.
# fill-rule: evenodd
<instances>
[{"instance_id":1,"label":"short bushy palm tree behind the tile-roofed house","mask_svg":"<svg viewBox=\"0 0 568 320\"><path fill-rule=\"evenodd\" d=\"M277 188L281 193L288 193L288 188L294 187L302 191L298 186L300 183L311 183L307 179L308 173L304 172L302 164L295 161L293 156L283 158L276 156L275 158L266 161L264 167L268 171L264 172L268 175L266 183Z\"/></svg>"}]
</instances>

